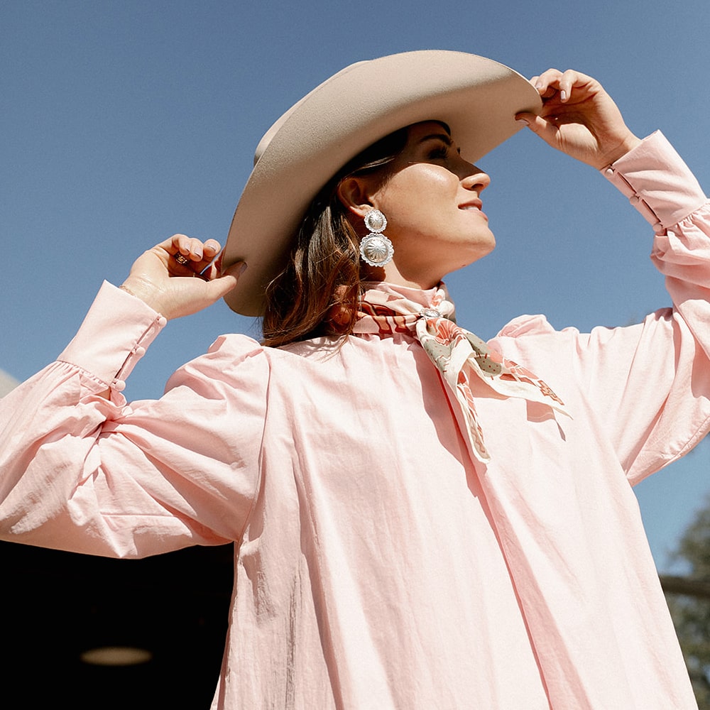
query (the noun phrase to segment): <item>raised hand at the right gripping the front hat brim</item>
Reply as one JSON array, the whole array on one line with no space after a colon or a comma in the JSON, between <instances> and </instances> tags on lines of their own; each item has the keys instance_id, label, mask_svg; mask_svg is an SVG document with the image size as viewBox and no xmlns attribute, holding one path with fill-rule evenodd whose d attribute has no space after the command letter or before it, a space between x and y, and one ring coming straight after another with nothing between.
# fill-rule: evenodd
<instances>
[{"instance_id":1,"label":"raised hand at the right gripping the front hat brim","mask_svg":"<svg viewBox=\"0 0 710 710\"><path fill-rule=\"evenodd\" d=\"M540 116L523 113L515 118L558 151L601 170L640 143L595 79L548 69L530 83L542 97Z\"/></svg>"}]
</instances>

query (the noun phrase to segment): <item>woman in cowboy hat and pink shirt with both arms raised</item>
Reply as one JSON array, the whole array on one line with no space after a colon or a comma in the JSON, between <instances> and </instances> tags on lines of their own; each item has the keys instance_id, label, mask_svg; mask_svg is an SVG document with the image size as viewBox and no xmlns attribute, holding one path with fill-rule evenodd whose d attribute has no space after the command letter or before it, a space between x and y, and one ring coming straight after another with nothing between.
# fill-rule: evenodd
<instances>
[{"instance_id":1,"label":"woman in cowboy hat and pink shirt with both arms raised","mask_svg":"<svg viewBox=\"0 0 710 710\"><path fill-rule=\"evenodd\" d=\"M494 246L469 161L515 119L633 197L673 310L489 344L453 324L439 281ZM155 246L3 402L3 537L238 542L218 708L694 707L629 485L710 422L709 212L682 160L585 75L447 52L348 67L257 155L222 275L214 241ZM223 296L280 347L221 337L126 404L165 320Z\"/></svg>"}]
</instances>

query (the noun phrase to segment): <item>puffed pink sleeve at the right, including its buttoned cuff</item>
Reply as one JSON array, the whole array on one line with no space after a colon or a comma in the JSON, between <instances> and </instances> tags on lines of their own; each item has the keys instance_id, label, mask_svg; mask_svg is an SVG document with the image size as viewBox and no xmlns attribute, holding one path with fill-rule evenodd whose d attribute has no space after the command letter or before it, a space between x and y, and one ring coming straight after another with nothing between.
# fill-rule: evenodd
<instances>
[{"instance_id":1,"label":"puffed pink sleeve at the right, including its buttoned cuff","mask_svg":"<svg viewBox=\"0 0 710 710\"><path fill-rule=\"evenodd\" d=\"M710 428L710 206L660 132L604 173L652 224L651 258L673 302L636 326L574 341L596 420L636 482Z\"/></svg>"}]
</instances>

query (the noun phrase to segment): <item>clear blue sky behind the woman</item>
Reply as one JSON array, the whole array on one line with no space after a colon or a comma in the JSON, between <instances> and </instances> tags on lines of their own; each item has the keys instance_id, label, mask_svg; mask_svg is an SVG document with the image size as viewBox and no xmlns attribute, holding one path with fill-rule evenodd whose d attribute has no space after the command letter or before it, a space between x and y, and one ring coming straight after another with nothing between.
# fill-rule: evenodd
<instances>
[{"instance_id":1,"label":"clear blue sky behind the woman","mask_svg":"<svg viewBox=\"0 0 710 710\"><path fill-rule=\"evenodd\" d=\"M351 62L440 48L534 75L574 67L616 98L639 135L662 129L710 185L706 0L177 0L0 4L0 368L53 360L102 279L181 231L223 241L262 133ZM373 87L376 90L376 87ZM447 280L459 322L491 337L522 312L582 330L668 304L651 232L594 170L520 133L481 161L498 239ZM219 303L172 322L133 373L130 398L222 332L258 334ZM710 491L710 444L638 487L657 564Z\"/></svg>"}]
</instances>

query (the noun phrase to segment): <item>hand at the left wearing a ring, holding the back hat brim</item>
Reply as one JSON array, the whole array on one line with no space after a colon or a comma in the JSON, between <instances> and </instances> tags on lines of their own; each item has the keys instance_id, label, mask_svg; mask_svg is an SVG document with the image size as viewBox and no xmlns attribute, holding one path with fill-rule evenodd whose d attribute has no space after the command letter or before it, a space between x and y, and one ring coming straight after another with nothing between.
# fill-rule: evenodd
<instances>
[{"instance_id":1,"label":"hand at the left wearing a ring, holding the back hat brim","mask_svg":"<svg viewBox=\"0 0 710 710\"><path fill-rule=\"evenodd\" d=\"M229 293L246 268L246 263L238 262L220 275L219 260L214 261L220 249L214 239L203 243L175 234L143 252L121 288L168 320L196 313ZM179 263L178 255L189 261Z\"/></svg>"}]
</instances>

